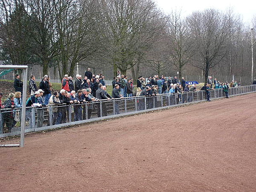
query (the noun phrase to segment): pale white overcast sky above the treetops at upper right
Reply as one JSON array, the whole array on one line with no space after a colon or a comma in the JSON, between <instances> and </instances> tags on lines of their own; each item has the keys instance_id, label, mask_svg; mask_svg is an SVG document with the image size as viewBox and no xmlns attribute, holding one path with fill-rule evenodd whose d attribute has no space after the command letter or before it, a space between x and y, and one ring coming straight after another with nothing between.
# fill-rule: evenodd
<instances>
[{"instance_id":1,"label":"pale white overcast sky above the treetops at upper right","mask_svg":"<svg viewBox=\"0 0 256 192\"><path fill-rule=\"evenodd\" d=\"M182 15L186 16L194 11L202 11L207 8L225 11L231 7L235 13L242 16L244 23L248 25L251 24L253 16L256 16L255 0L155 0L155 2L167 14L172 9L181 9Z\"/></svg>"}]
</instances>

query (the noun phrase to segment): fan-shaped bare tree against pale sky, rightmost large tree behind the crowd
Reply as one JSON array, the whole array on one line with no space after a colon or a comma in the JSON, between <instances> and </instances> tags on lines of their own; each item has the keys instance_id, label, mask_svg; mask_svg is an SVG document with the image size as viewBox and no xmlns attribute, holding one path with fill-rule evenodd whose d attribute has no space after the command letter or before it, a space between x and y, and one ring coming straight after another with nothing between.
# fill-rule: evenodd
<instances>
[{"instance_id":1,"label":"fan-shaped bare tree against pale sky, rightmost large tree behind the crowd","mask_svg":"<svg viewBox=\"0 0 256 192\"><path fill-rule=\"evenodd\" d=\"M209 70L227 54L227 41L233 35L228 30L228 16L215 9L194 12L187 17L197 52L191 63L204 71L205 82Z\"/></svg>"}]
</instances>

